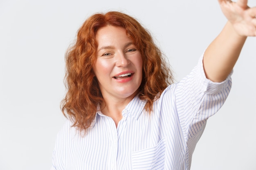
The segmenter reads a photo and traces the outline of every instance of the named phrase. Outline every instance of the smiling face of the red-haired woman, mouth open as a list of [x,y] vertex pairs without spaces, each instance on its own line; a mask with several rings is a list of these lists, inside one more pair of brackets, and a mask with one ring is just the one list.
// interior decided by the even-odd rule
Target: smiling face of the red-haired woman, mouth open
[[122,27],[105,26],[97,31],[97,59],[93,71],[106,99],[129,99],[138,93],[142,57]]

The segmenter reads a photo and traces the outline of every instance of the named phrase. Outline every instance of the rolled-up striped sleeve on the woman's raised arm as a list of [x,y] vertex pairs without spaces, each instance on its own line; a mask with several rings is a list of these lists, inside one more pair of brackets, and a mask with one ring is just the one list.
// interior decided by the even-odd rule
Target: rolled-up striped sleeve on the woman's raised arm
[[177,113],[187,143],[187,166],[207,119],[224,104],[231,89],[231,74],[223,82],[212,82],[204,74],[203,56],[191,73],[177,84]]

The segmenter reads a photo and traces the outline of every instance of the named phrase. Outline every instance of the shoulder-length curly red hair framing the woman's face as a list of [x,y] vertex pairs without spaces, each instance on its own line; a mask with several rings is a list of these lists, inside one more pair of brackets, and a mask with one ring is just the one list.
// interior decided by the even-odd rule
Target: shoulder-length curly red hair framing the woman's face
[[112,25],[121,26],[140,51],[143,61],[143,79],[139,97],[146,100],[145,109],[150,113],[153,102],[164,89],[173,83],[171,71],[157,48],[150,33],[134,18],[111,11],[97,13],[88,18],[77,33],[76,42],[66,55],[67,94],[62,101],[62,112],[73,121],[73,126],[86,130],[95,119],[97,106],[103,101],[92,65],[96,60],[97,30]]

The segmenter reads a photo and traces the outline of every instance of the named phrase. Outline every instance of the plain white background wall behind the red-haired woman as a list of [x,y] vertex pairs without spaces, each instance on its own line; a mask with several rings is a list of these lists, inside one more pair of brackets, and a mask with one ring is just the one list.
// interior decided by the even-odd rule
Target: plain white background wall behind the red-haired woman
[[[217,0],[1,0],[0,170],[50,168],[65,121],[60,110],[65,51],[88,16],[110,10],[123,11],[150,30],[177,81],[226,22]],[[248,38],[231,93],[209,119],[191,170],[256,170],[255,67],[256,38]]]

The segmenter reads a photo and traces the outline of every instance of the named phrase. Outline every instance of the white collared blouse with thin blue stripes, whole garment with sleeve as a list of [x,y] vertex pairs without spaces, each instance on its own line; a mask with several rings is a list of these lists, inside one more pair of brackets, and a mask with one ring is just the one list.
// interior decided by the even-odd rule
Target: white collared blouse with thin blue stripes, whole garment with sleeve
[[67,121],[56,139],[52,170],[189,170],[207,119],[229,94],[230,76],[211,82],[201,57],[188,76],[165,89],[150,115],[136,96],[117,128],[100,111],[84,137]]

